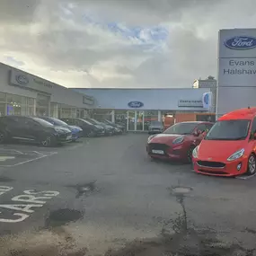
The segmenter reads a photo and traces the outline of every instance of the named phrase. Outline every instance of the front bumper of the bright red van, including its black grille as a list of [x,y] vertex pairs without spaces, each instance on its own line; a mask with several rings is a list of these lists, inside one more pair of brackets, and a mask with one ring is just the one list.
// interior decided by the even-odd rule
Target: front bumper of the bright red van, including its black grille
[[231,162],[211,162],[194,158],[193,168],[195,172],[200,174],[232,177],[247,172],[247,163],[247,157],[241,157]]

